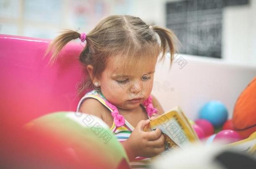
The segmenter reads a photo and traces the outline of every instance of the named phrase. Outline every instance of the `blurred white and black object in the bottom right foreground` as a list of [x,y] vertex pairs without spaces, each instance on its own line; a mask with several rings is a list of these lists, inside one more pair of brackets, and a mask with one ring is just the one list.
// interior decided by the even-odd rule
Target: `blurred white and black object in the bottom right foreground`
[[189,145],[169,151],[154,161],[155,169],[254,169],[255,156],[213,144]]

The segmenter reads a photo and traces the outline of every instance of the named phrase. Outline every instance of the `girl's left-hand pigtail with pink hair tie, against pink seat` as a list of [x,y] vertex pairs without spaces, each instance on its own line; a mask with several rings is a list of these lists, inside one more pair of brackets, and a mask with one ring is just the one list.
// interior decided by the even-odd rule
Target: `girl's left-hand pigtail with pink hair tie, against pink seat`
[[[48,54],[51,53],[51,58],[50,58],[50,65],[52,66],[55,61],[57,60],[58,54],[60,53],[60,50],[71,40],[74,40],[76,38],[80,38],[80,33],[73,31],[73,30],[66,30],[62,32],[61,35],[57,36],[51,44],[48,46],[46,53],[44,57]],[[44,58],[43,57],[43,58]],[[49,64],[48,63],[48,64]]]

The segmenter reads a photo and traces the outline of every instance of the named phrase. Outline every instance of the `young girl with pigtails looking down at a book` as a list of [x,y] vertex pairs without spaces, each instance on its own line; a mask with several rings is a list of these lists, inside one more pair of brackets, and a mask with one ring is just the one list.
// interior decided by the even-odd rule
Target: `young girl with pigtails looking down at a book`
[[[51,63],[71,40],[86,43],[80,61],[86,66],[93,91],[78,103],[77,111],[105,121],[123,144],[133,164],[144,164],[165,150],[159,129],[143,131],[164,113],[151,95],[155,65],[169,48],[172,63],[176,37],[171,30],[150,26],[140,18],[112,15],[101,20],[89,33],[68,30],[50,45]],[[134,166],[136,167],[136,166]]]

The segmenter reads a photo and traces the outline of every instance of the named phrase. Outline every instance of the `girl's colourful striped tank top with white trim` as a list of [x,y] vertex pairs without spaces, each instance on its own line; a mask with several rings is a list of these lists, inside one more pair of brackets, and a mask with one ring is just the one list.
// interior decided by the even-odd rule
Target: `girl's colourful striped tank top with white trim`
[[[152,97],[152,96],[150,96],[150,97]],[[103,96],[102,92],[92,90],[92,91],[86,93],[85,96],[81,98],[81,100],[78,103],[77,109],[76,109],[77,112],[78,112],[81,104],[85,101],[86,98],[95,98],[100,103],[102,103],[104,106],[106,106],[110,110],[110,112],[113,111],[111,106],[109,106],[110,103],[107,102],[107,100]],[[144,106],[146,108],[147,112],[150,111],[149,109],[147,109],[148,107],[146,107],[145,105],[142,105],[142,106]],[[151,112],[151,114],[152,113],[153,112]],[[148,118],[150,118],[151,114],[149,115],[149,113],[148,113]],[[134,130],[134,127],[127,120],[124,119],[124,124],[122,126],[116,126],[113,121],[113,124],[112,124],[110,130],[116,136],[118,141],[122,142],[129,138],[129,136],[131,135],[131,132]],[[150,158],[138,156],[133,161],[130,161],[130,166],[131,166],[131,168],[136,168],[136,169],[152,168],[151,162],[152,162],[152,160]]]

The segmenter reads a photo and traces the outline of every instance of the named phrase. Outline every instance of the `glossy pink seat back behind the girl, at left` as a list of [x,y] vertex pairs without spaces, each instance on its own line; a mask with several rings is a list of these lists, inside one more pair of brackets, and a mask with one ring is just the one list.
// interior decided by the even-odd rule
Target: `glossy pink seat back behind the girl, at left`
[[[55,111],[76,111],[86,79],[79,61],[82,45],[69,43],[55,65],[44,53],[50,40],[0,35],[1,120],[24,124]],[[88,91],[88,90],[87,90]]]

